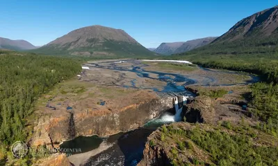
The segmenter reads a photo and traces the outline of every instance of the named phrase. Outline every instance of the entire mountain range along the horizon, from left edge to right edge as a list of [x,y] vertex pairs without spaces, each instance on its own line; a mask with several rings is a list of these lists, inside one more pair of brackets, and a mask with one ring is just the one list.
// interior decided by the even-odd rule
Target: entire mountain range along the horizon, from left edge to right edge
[[[206,50],[215,54],[235,54],[245,50],[260,53],[262,47],[277,46],[278,7],[256,12],[238,21],[236,25],[220,37],[204,37],[187,42],[162,43],[158,48],[145,48],[124,30],[105,26],[88,26],[55,39],[40,48],[24,40],[11,40],[0,37],[0,48],[10,50],[32,50],[48,55],[85,55],[95,57],[153,57],[160,55],[188,55]],[[200,48],[202,47],[202,48]],[[36,49],[35,49],[36,48]],[[248,49],[248,50],[247,50]],[[236,52],[235,52],[236,50]],[[252,50],[250,52],[250,50]],[[203,52],[202,52],[203,51]]]

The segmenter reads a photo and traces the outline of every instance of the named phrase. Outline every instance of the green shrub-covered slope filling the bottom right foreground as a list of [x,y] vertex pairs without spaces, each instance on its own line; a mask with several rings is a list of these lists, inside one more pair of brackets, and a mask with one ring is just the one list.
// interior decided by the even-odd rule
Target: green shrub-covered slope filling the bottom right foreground
[[277,138],[250,127],[244,120],[240,125],[226,121],[183,127],[170,124],[158,132],[160,138],[150,140],[149,145],[158,149],[162,145],[161,151],[170,151],[167,156],[174,166],[278,165],[278,148],[273,146]]

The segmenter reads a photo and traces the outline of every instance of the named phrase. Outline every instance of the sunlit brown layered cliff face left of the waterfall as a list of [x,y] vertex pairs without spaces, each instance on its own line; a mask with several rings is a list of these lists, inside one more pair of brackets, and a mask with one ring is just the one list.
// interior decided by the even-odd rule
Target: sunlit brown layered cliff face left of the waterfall
[[117,112],[72,111],[67,116],[44,121],[42,125],[45,130],[40,131],[44,137],[34,139],[32,144],[57,147],[60,142],[78,136],[111,136],[120,131],[136,129],[168,109],[172,109],[172,98],[154,98],[129,105]]

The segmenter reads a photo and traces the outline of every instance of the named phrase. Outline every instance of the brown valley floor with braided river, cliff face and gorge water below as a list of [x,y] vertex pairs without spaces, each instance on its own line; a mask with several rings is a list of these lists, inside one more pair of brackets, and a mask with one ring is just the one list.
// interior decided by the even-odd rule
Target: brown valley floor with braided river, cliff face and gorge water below
[[[161,68],[165,64],[168,67]],[[137,165],[149,134],[182,119],[182,115],[176,115],[179,120],[175,118],[174,96],[181,101],[183,95],[189,101],[196,95],[189,87],[235,89],[259,81],[247,73],[181,62],[100,60],[82,64],[82,68],[76,78],[58,84],[38,100],[37,127],[30,140],[33,147],[81,148],[81,154],[68,157],[74,165]],[[226,109],[218,115],[228,113],[240,120],[229,107]]]

